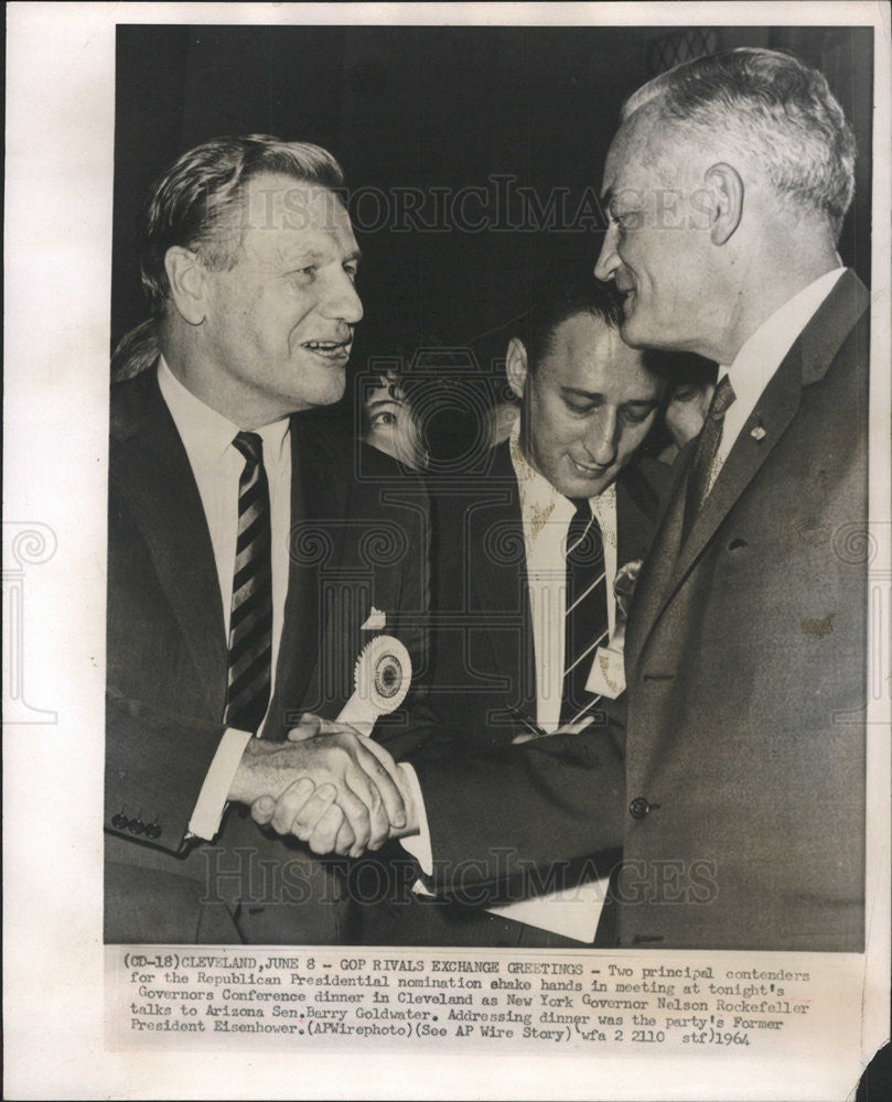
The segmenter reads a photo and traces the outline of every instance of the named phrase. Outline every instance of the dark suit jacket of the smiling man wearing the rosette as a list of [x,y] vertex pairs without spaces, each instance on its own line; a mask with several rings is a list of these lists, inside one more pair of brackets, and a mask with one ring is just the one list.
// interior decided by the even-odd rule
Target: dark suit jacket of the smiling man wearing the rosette
[[[264,731],[271,738],[301,711],[337,714],[356,655],[375,634],[361,630],[373,605],[416,666],[424,661],[423,488],[312,415],[292,418],[291,444],[289,588]],[[107,666],[106,938],[232,940],[233,900],[262,900],[240,880],[227,886],[225,905],[208,895],[207,847],[184,838],[223,732],[227,653],[201,498],[154,370],[112,391]],[[376,737],[400,753],[417,735],[402,715],[379,723]],[[254,847],[258,861],[281,862],[286,852],[232,812],[221,839]],[[208,898],[217,904],[212,930]],[[310,940],[337,936],[335,910],[311,920]]]

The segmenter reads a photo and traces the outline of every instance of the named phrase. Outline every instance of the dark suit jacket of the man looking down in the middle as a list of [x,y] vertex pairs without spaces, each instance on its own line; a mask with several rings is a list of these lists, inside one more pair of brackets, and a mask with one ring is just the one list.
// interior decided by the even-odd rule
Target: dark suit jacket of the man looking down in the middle
[[[529,591],[527,581],[520,499],[517,478],[507,442],[494,449],[485,472],[462,478],[438,477],[430,482],[434,539],[431,548],[431,650],[433,655],[429,703],[439,717],[439,727],[410,755],[412,764],[426,774],[432,763],[451,759],[476,760],[482,755],[480,776],[498,773],[512,738],[525,728],[519,716],[536,717],[536,676],[533,645]],[[647,554],[656,531],[659,507],[674,477],[665,464],[643,460],[626,468],[616,485],[617,566]],[[560,568],[560,563],[557,564]],[[481,840],[507,836],[518,814],[527,807],[527,778],[518,786],[515,798],[499,807],[488,807],[488,800],[471,808],[462,793],[456,795],[455,813],[450,823],[456,834],[472,827],[476,841],[459,861],[490,862],[498,879],[503,866],[513,874],[509,884],[499,884],[486,893],[485,901],[501,898],[523,898],[544,887],[558,887],[605,875],[619,860],[621,842],[623,786],[623,746],[625,742],[625,699],[604,699],[598,707],[597,736],[589,737],[573,753],[590,755],[599,763],[599,800],[605,814],[610,808],[613,832],[604,852],[587,852],[573,856],[591,857],[568,863],[560,871],[551,868],[538,879],[536,869],[515,867],[509,855],[491,853]],[[569,739],[572,747],[574,736]],[[567,746],[563,736],[542,739],[546,744]],[[547,755],[546,755],[547,756]],[[427,792],[422,779],[422,789]],[[476,791],[476,789],[475,789]],[[443,792],[444,799],[447,793]],[[434,808],[434,814],[437,809]],[[443,809],[445,811],[445,808]],[[531,806],[530,806],[531,810]],[[447,812],[448,813],[448,812]],[[468,819],[459,819],[465,814]],[[545,824],[534,818],[530,827]],[[451,828],[444,824],[444,829]],[[547,829],[547,828],[545,828]],[[436,838],[436,835],[434,835]],[[605,835],[606,838],[606,835]],[[496,846],[498,843],[496,842]],[[437,855],[437,850],[434,850]],[[560,855],[556,852],[556,855]],[[397,865],[391,860],[390,876]],[[495,869],[498,867],[499,873]],[[432,903],[418,903],[410,894],[417,875],[411,867],[390,899],[366,914],[365,937],[372,943],[406,944],[570,944],[531,929],[520,932],[518,923],[483,914],[479,905],[480,869],[471,873],[469,890],[453,883],[452,901],[468,907],[442,908]],[[531,878],[520,875],[531,872]],[[548,879],[548,877],[552,879]],[[557,877],[557,878],[555,878]],[[379,874],[384,883],[384,873]],[[461,869],[456,882],[461,882]],[[443,873],[436,879],[442,884]],[[389,914],[388,914],[389,909]],[[516,940],[512,940],[516,939]],[[578,942],[572,942],[578,944]]]

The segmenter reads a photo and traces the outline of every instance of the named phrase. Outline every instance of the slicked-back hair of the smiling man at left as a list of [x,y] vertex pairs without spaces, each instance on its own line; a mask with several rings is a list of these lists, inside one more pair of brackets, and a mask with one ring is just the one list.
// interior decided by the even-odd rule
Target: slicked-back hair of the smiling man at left
[[139,222],[142,288],[155,317],[170,296],[164,255],[171,246],[194,249],[208,267],[235,263],[241,230],[230,217],[256,176],[281,173],[332,192],[343,186],[341,166],[326,150],[268,134],[213,138],[183,155],[158,180]]

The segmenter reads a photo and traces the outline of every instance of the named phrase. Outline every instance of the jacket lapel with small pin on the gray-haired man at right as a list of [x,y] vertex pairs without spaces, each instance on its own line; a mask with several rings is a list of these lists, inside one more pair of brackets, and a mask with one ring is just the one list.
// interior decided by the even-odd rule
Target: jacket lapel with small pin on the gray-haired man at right
[[681,461],[684,476],[676,484],[638,581],[627,636],[630,662],[637,662],[663,609],[784,434],[799,408],[803,387],[824,377],[868,301],[858,277],[845,272],[773,375],[741,429],[684,547],[679,547],[687,474],[694,453],[689,446],[686,462]]

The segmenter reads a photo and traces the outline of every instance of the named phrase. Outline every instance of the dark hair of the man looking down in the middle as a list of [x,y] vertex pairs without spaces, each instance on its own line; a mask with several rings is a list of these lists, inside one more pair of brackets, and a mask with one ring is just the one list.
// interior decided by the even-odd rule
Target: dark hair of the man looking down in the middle
[[548,355],[555,329],[568,317],[589,314],[613,328],[623,321],[622,295],[612,283],[602,283],[591,273],[562,270],[544,276],[534,287],[531,305],[524,315],[524,344],[530,370]]

